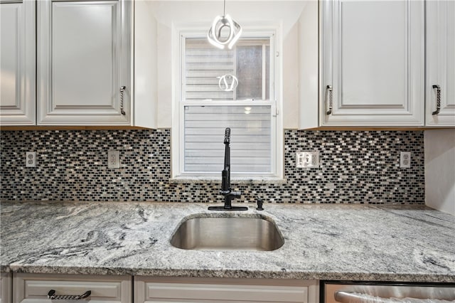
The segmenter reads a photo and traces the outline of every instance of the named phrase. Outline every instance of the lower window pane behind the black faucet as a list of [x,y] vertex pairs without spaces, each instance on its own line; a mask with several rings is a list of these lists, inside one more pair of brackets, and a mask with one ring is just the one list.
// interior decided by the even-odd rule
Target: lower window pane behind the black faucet
[[231,173],[271,173],[270,106],[185,106],[186,172],[221,172],[225,128],[231,129]]

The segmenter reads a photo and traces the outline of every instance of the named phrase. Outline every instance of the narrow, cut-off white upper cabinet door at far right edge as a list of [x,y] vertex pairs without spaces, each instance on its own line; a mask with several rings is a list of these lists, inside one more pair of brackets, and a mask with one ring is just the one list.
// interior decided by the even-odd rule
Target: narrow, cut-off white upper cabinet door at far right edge
[[427,126],[455,126],[455,1],[427,1],[426,91]]

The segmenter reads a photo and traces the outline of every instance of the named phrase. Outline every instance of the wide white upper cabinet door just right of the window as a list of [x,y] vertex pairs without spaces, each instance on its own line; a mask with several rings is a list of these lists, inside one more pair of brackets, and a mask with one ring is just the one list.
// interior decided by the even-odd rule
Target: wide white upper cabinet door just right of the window
[[322,1],[322,125],[424,124],[424,1]]

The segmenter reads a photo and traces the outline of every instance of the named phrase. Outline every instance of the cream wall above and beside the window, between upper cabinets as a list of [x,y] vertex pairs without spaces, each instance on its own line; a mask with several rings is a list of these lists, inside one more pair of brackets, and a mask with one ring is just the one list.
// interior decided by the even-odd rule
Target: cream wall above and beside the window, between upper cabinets
[[[317,3],[317,2],[316,2]],[[172,64],[172,28],[178,24],[194,23],[210,28],[213,18],[223,14],[223,1],[148,1],[157,26],[157,127],[172,126],[173,80],[178,68]],[[283,115],[284,128],[299,125],[299,17],[306,1],[226,1],[226,13],[242,26],[257,22],[281,24],[283,49]],[[317,14],[317,12],[316,12]],[[317,17],[317,16],[316,16]],[[316,28],[317,31],[317,28]]]

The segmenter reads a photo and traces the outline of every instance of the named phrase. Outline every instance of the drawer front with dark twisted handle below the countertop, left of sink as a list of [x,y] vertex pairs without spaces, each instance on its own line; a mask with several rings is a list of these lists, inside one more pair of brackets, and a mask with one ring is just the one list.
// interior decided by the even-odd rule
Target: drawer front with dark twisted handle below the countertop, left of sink
[[[14,273],[14,303],[132,302],[131,276]],[[49,295],[55,296],[50,298]],[[68,296],[68,297],[63,297]]]

